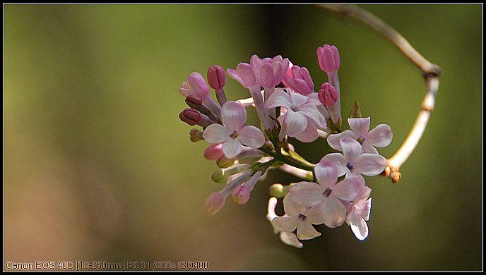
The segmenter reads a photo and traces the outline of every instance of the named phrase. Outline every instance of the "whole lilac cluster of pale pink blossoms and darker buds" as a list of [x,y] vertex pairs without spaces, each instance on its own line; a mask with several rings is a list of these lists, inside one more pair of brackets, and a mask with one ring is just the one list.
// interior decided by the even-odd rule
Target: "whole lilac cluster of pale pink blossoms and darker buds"
[[[266,171],[280,169],[304,180],[271,188],[275,197],[268,201],[267,218],[284,243],[302,247],[300,240],[321,235],[313,226],[319,224],[335,228],[346,223],[358,239],[367,238],[371,189],[363,176],[384,171],[386,159],[377,147],[388,146],[393,135],[386,124],[369,130],[370,118],[361,118],[357,106],[348,118],[350,129],[342,130],[339,51],[324,45],[317,49],[317,59],[328,77],[317,92],[307,68],[282,56],[261,59],[254,55],[249,63],[239,63],[226,73],[212,66],[207,74],[209,86],[197,72],[182,82],[179,92],[190,108],[179,118],[203,128],[191,129],[191,140],[211,143],[204,157],[220,167],[211,178],[226,183],[206,200],[208,214],[219,212],[230,196],[237,204],[247,203]],[[227,101],[226,75],[247,88],[251,98]],[[217,102],[210,96],[210,87]],[[261,127],[246,124],[251,107]],[[301,142],[324,138],[338,152],[312,164],[295,152],[289,138]],[[275,214],[277,197],[283,198],[283,216]]]

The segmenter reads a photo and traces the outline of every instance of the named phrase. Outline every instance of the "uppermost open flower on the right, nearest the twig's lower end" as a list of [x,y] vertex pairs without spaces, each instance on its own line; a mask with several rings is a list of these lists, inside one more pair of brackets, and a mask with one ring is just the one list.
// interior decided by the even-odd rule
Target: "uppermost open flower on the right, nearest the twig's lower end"
[[343,151],[340,145],[340,139],[349,137],[360,142],[364,153],[378,154],[375,147],[386,147],[390,145],[393,139],[393,133],[390,126],[379,124],[373,130],[369,131],[370,118],[348,118],[348,124],[351,130],[344,130],[342,133],[329,135],[327,142],[329,146],[338,151]]

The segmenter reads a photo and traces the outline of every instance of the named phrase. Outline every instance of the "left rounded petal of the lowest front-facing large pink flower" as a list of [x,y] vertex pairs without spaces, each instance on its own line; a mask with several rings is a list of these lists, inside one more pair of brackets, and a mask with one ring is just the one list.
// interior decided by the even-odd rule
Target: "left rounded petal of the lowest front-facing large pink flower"
[[323,192],[324,189],[321,185],[308,181],[301,181],[290,187],[289,196],[297,204],[312,207],[322,202],[324,199]]

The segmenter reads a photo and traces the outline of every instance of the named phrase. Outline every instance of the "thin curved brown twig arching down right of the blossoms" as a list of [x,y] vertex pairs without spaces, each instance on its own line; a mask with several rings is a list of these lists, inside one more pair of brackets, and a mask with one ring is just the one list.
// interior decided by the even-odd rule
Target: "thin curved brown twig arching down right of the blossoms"
[[422,75],[426,80],[427,93],[425,94],[422,108],[420,109],[417,119],[402,146],[397,150],[393,157],[388,159],[388,164],[384,171],[384,175],[389,176],[391,181],[396,183],[400,181],[401,178],[401,173],[399,171],[400,167],[405,163],[408,157],[410,157],[410,154],[412,154],[415,147],[417,147],[417,144],[427,127],[427,123],[429,122],[430,114],[432,114],[432,111],[434,110],[435,97],[437,95],[437,90],[439,89],[439,75],[441,74],[441,68],[425,59],[424,56],[410,45],[405,37],[372,13],[364,11],[362,8],[355,5],[321,4],[318,6],[343,16],[355,18],[364,25],[371,27],[373,30],[376,30],[390,39],[391,42],[393,42],[393,44],[395,44],[396,47],[398,47],[398,49],[400,49],[400,51],[420,69],[420,71],[422,71]]

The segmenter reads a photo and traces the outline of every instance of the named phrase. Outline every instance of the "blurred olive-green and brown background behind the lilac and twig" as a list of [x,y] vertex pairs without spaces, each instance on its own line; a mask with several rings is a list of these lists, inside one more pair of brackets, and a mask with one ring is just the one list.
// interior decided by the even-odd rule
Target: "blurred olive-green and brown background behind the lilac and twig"
[[[425,94],[381,35],[315,6],[4,6],[4,261],[208,261],[212,270],[482,269],[482,6],[362,5],[443,70],[403,178],[367,178],[370,235],[317,226],[297,249],[265,218],[271,171],[249,203],[215,216],[222,186],[177,117],[192,71],[281,54],[326,79],[316,48],[340,49],[343,115],[357,100],[388,123],[391,157]],[[230,99],[249,97],[228,80]],[[251,114],[256,123],[256,115]],[[309,160],[331,152],[295,142]],[[281,204],[281,202],[279,203]],[[5,265],[4,265],[5,269]]]

